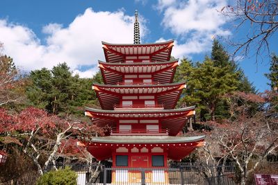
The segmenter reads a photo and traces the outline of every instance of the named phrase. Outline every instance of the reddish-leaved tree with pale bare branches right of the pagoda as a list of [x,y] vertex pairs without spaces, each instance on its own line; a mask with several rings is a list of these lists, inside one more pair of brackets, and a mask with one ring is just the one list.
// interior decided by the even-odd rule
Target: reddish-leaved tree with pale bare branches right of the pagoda
[[[218,145],[220,161],[235,161],[240,171],[240,184],[245,184],[254,170],[270,154],[278,150],[278,117],[273,112],[277,105],[269,102],[272,92],[247,94],[234,92],[227,95],[230,106],[230,118],[218,122],[209,122],[213,131],[208,133],[208,145],[204,150],[207,157],[214,160],[213,146]],[[207,159],[208,159],[207,158]]]

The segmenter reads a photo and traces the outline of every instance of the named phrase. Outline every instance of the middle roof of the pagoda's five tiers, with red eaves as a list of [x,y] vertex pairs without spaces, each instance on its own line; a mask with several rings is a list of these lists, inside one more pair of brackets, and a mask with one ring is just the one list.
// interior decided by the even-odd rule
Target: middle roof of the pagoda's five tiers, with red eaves
[[120,103],[121,96],[157,96],[158,103],[163,104],[165,109],[173,109],[185,87],[185,82],[159,85],[93,85],[102,109],[113,109],[114,105]]

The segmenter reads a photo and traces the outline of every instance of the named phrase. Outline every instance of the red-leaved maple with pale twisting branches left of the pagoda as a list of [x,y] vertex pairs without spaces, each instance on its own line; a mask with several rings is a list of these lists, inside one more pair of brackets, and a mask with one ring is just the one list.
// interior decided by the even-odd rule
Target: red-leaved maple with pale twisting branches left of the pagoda
[[90,139],[96,132],[101,134],[95,125],[59,118],[35,107],[19,113],[0,109],[2,143],[7,148],[20,146],[21,152],[33,160],[40,174],[49,164],[55,163],[57,157],[86,157],[85,148],[77,146],[77,141]]

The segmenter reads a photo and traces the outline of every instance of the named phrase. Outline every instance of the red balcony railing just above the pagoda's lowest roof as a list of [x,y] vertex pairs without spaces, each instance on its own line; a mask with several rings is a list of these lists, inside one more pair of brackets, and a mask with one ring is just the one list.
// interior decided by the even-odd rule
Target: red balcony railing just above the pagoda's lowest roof
[[168,135],[168,130],[111,130],[111,135]]

